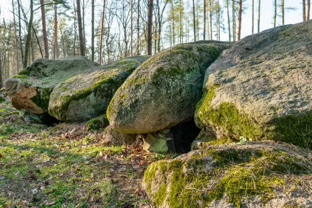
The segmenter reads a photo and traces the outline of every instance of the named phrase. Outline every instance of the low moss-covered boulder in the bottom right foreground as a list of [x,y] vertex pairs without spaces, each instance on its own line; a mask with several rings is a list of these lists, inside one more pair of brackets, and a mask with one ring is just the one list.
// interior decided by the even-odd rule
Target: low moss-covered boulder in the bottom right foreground
[[211,145],[152,163],[142,188],[160,207],[309,207],[312,154],[289,144]]

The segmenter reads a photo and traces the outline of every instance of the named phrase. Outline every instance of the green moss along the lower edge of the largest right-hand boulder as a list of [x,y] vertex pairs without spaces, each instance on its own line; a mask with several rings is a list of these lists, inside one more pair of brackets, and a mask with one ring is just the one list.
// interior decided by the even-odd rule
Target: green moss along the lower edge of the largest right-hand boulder
[[276,140],[295,145],[312,147],[309,139],[311,129],[311,111],[299,116],[275,118],[268,124],[259,124],[244,113],[235,103],[222,102],[217,108],[211,107],[215,90],[219,85],[211,86],[197,103],[196,114],[206,126],[222,127],[231,137],[244,136],[250,140]]

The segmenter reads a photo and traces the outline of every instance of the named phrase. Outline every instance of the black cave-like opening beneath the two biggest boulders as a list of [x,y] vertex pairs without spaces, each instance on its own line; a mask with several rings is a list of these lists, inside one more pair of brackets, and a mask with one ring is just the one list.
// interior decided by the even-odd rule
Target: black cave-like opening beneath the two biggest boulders
[[194,119],[171,127],[170,133],[173,134],[175,151],[177,153],[189,152],[199,132],[200,129],[195,125]]

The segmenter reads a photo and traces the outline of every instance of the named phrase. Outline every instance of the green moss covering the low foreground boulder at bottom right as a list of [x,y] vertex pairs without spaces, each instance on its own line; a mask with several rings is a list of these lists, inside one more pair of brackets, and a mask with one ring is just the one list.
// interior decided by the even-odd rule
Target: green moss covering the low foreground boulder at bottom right
[[[205,169],[206,155],[213,158],[212,171]],[[304,161],[280,150],[210,149],[188,162],[175,159],[152,163],[144,174],[144,183],[158,206],[166,200],[170,207],[206,207],[226,194],[229,203],[240,207],[244,197],[274,197],[275,188],[284,185],[277,175],[308,172]],[[152,185],[160,188],[153,190]]]

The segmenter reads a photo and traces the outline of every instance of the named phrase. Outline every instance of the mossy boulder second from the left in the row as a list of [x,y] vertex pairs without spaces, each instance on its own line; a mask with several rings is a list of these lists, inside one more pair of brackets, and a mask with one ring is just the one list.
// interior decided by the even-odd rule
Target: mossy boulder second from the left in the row
[[149,56],[136,56],[94,67],[57,85],[49,114],[62,121],[81,121],[106,113],[116,90]]

